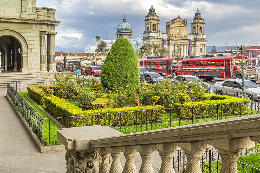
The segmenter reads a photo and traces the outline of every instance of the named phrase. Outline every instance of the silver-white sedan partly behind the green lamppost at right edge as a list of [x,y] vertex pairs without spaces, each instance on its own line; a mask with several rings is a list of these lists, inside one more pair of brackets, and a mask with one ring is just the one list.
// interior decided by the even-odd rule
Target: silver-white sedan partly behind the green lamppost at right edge
[[[244,80],[245,93],[251,101],[260,100],[260,87],[252,81]],[[242,91],[242,79],[228,79],[223,82],[216,82],[214,93],[238,97]]]

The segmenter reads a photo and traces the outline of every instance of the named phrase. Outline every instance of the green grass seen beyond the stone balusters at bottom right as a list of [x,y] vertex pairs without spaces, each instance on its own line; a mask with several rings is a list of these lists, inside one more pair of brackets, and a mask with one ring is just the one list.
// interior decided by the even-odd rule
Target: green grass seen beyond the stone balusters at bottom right
[[[258,168],[260,169],[260,153],[254,153],[254,154],[250,154],[250,155],[246,155],[246,156],[240,156],[238,157],[238,161],[240,162],[237,162],[237,170],[238,172],[242,173],[242,172],[253,172],[253,173],[259,173],[260,170],[256,170],[252,167],[255,167],[255,168]],[[242,164],[241,162],[245,163],[245,164],[248,164],[248,165],[244,165]],[[222,162],[221,161],[215,161],[215,162],[211,162],[211,172],[215,171],[218,169],[220,170],[221,169],[221,164]],[[209,164],[205,164],[205,165],[209,165]],[[202,166],[200,166],[202,167]],[[203,172],[209,172],[208,169],[206,168],[203,168]]]

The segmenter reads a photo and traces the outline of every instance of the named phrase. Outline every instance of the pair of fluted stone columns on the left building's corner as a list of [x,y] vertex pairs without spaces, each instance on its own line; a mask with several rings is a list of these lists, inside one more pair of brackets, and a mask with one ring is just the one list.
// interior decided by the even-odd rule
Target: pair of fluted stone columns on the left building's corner
[[[40,32],[40,71],[56,71],[55,64],[55,35],[56,32]],[[47,67],[46,41],[47,35]]]

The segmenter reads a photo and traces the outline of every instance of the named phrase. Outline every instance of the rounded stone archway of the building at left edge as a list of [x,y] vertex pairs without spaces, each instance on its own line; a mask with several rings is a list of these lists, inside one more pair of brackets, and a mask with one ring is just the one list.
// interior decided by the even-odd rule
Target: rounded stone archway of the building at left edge
[[4,56],[5,69],[8,68],[7,64],[12,64],[12,69],[28,72],[28,44],[24,37],[13,30],[0,30],[0,38],[0,47],[4,50],[2,59]]

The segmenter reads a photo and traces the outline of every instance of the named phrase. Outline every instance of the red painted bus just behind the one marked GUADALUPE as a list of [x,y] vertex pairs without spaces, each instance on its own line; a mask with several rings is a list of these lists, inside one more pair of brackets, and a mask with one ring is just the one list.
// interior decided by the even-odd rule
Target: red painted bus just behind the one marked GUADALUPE
[[[178,65],[181,66],[182,60],[183,58],[181,57],[151,56],[144,59],[144,67],[150,72],[165,73],[166,76],[173,77],[181,75],[182,71]],[[142,67],[142,60],[139,65]]]

